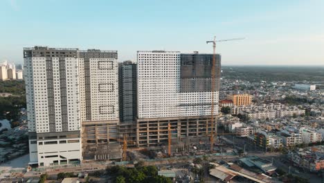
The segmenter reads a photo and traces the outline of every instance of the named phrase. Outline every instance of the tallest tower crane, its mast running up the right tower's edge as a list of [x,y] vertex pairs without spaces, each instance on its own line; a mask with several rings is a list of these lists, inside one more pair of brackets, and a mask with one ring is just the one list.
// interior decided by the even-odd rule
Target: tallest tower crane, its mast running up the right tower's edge
[[[233,38],[233,39],[227,39],[227,40],[216,40],[216,36],[214,36],[213,41],[207,41],[206,44],[208,43],[213,43],[213,65],[212,65],[212,71],[211,71],[211,110],[210,110],[210,122],[211,122],[211,132],[210,132],[210,151],[213,152],[214,149],[214,103],[215,103],[215,97],[214,97],[214,92],[215,92],[215,82],[216,82],[216,42],[228,42],[228,41],[234,41],[234,40],[244,40],[245,38]],[[217,71],[217,89],[219,89],[220,85],[220,71]],[[216,125],[216,132],[215,134],[217,135],[217,121],[215,121]],[[208,121],[206,122],[206,134],[208,136]]]

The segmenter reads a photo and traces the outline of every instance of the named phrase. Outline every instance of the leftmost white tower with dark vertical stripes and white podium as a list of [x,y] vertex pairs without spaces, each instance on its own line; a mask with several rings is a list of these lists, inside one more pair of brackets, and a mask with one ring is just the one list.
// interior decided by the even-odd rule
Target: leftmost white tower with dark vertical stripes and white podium
[[80,162],[77,49],[24,49],[30,164]]

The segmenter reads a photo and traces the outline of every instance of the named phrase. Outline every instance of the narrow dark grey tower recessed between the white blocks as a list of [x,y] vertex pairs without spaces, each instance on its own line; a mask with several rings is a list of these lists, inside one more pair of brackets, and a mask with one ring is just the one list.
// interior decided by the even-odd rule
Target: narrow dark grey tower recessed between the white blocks
[[134,122],[137,115],[136,64],[125,61],[119,64],[120,121]]

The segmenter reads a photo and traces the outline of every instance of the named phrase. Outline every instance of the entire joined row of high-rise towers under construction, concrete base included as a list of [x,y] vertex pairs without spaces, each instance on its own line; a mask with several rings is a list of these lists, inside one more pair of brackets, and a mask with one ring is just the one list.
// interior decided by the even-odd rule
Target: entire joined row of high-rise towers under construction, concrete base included
[[[167,143],[169,124],[172,139],[210,133],[212,54],[138,51],[137,64],[117,59],[117,51],[24,49],[30,164],[120,159],[125,140]],[[219,55],[215,69],[217,115]]]

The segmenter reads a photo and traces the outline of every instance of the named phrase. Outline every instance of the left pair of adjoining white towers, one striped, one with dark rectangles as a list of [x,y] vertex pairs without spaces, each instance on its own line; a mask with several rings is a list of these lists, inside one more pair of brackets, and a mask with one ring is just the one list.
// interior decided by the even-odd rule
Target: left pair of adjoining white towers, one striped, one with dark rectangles
[[30,164],[80,162],[83,146],[116,136],[116,59],[116,51],[24,49]]

